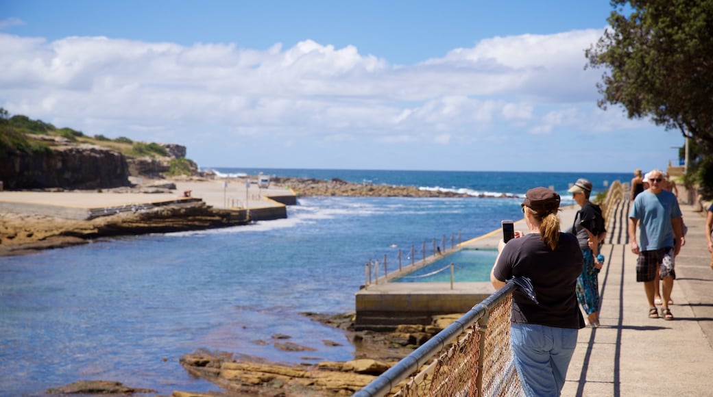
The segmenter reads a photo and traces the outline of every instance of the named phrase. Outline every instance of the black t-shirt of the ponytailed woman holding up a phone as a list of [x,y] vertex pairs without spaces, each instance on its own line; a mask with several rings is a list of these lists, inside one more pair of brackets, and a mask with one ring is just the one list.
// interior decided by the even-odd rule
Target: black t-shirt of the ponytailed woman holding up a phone
[[571,233],[560,233],[558,248],[554,251],[537,233],[508,241],[493,275],[501,281],[513,276],[529,277],[539,302],[533,302],[515,288],[511,321],[583,328],[585,323],[575,295],[577,277],[582,273],[583,265],[582,251]]

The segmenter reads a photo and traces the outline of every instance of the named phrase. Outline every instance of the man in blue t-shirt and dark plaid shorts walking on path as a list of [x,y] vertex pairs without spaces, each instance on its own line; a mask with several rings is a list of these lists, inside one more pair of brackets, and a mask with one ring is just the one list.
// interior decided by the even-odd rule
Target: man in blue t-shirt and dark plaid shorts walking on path
[[[663,284],[661,314],[664,319],[672,320],[669,299],[676,278],[674,259],[685,243],[683,218],[676,196],[663,189],[663,172],[655,169],[648,179],[650,188],[636,197],[629,213],[629,243],[632,253],[639,255],[636,281],[644,283],[649,317],[659,318],[654,303],[654,280],[659,277]],[[638,241],[637,229],[640,231]]]

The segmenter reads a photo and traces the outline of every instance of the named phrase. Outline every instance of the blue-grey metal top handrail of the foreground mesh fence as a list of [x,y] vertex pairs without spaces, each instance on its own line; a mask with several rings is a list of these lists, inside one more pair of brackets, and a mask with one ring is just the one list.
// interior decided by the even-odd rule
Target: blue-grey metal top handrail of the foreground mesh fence
[[409,377],[422,365],[433,359],[445,346],[453,342],[453,340],[463,334],[463,332],[466,332],[466,329],[472,327],[473,324],[485,314],[488,314],[491,308],[496,307],[502,300],[511,295],[515,287],[516,285],[514,283],[508,282],[500,290],[493,292],[493,294],[488,296],[483,302],[473,306],[473,308],[468,310],[466,314],[463,314],[463,316],[453,322],[453,324],[443,329],[443,331],[438,332],[438,334],[431,337],[428,342],[419,346],[418,349],[401,359],[401,361],[379,375],[374,381],[371,381],[371,383],[364,388],[354,393],[354,397],[386,396],[399,382]]

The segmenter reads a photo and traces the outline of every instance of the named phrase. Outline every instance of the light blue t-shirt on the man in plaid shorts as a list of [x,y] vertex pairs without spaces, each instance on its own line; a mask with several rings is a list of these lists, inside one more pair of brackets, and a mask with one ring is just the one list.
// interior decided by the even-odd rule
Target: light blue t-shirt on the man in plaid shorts
[[634,199],[629,218],[639,220],[639,249],[660,250],[674,246],[672,219],[681,216],[678,199],[670,191],[644,191]]

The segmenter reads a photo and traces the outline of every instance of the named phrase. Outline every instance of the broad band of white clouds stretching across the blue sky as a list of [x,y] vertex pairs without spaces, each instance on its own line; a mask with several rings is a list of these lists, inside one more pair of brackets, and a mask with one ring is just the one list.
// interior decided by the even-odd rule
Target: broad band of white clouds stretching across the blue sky
[[260,51],[0,33],[0,106],[86,134],[204,153],[266,133],[278,144],[425,146],[573,126],[606,132],[627,124],[597,109],[598,74],[583,70],[584,50],[602,31],[489,38],[415,65],[311,40]]

